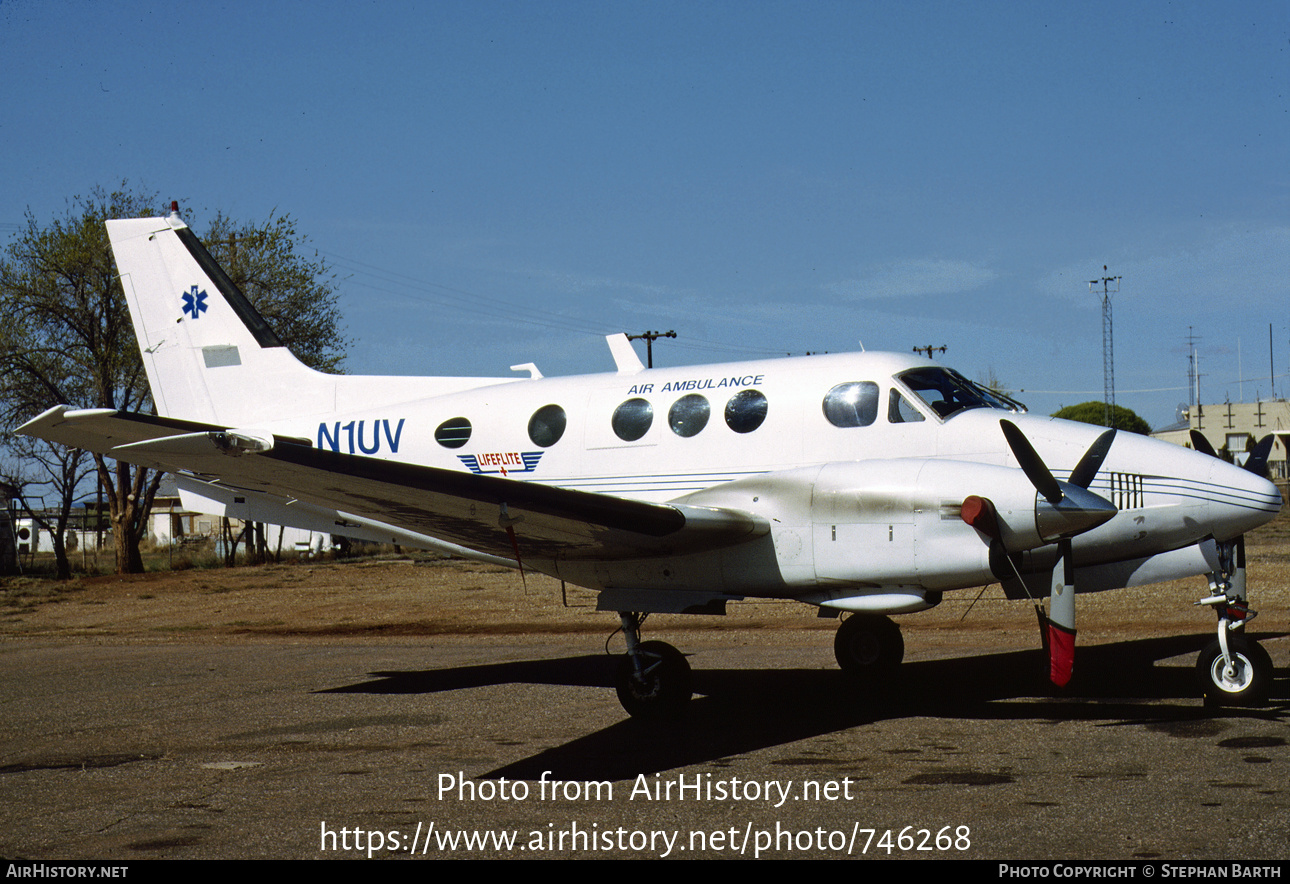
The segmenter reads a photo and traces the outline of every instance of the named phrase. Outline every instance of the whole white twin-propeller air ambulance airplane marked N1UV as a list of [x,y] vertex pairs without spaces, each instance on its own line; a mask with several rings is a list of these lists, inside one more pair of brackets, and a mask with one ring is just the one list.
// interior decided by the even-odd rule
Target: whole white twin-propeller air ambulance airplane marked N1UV
[[[646,614],[743,598],[848,613],[841,668],[888,680],[890,614],[1002,583],[1049,599],[1050,676],[1075,595],[1207,578],[1202,692],[1272,679],[1245,638],[1242,536],[1281,498],[1255,471],[1024,413],[925,359],[849,354],[544,378],[353,377],[297,361],[179,219],[107,222],[157,416],[57,407],[18,432],[175,475],[184,506],[542,572],[599,591],[632,715],[690,698]],[[1267,461],[1267,444],[1255,468]],[[1050,466],[1051,465],[1051,468]]]

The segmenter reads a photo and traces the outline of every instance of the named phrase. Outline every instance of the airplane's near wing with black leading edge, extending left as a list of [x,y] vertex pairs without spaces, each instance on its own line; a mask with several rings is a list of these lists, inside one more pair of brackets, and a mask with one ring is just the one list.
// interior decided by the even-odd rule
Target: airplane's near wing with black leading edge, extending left
[[[649,503],[341,454],[307,440],[59,405],[15,432],[233,490],[302,501],[470,550],[534,559],[635,559],[731,546],[770,530],[730,508]],[[511,530],[513,530],[513,537]]]

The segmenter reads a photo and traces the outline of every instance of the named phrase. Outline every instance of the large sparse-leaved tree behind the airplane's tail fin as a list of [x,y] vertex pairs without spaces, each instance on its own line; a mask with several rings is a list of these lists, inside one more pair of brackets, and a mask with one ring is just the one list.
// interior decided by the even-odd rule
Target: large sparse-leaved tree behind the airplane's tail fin
[[[123,182],[75,196],[62,217],[26,228],[0,258],[0,418],[8,426],[54,405],[151,412],[134,326],[112,261],[110,218],[164,214],[155,194]],[[230,277],[306,364],[337,370],[343,359],[335,277],[290,216],[261,225],[217,214],[205,237]],[[160,474],[94,456],[108,501],[116,569],[143,569],[139,543]]]

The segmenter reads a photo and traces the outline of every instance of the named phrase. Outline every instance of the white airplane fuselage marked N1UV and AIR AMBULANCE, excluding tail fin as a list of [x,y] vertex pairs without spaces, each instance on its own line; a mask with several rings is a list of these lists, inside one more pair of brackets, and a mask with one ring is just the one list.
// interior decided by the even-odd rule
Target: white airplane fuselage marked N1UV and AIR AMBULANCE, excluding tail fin
[[[969,496],[993,501],[1007,552],[1028,560],[1047,546],[1000,418],[1058,477],[1100,432],[1000,407],[1007,403],[947,403],[942,374],[915,356],[846,354],[519,379],[405,403],[391,388],[374,400],[392,404],[268,428],[346,454],[742,510],[770,525],[720,550],[525,563],[592,588],[940,591],[1002,577],[997,550],[992,560],[988,538],[960,517]],[[1265,480],[1133,434],[1117,436],[1090,490],[1117,512],[1073,538],[1080,567],[1133,563],[1138,579],[1162,578],[1138,573],[1143,563],[1236,537],[1280,507]],[[1204,564],[1198,551],[1175,559],[1166,573]],[[1081,588],[1124,585],[1120,572],[1090,570]]]

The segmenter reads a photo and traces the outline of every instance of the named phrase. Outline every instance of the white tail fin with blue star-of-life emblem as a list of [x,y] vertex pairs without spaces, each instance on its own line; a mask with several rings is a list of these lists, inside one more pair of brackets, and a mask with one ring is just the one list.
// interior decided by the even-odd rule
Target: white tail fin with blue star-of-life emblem
[[334,408],[334,376],[283,346],[178,210],[108,221],[107,232],[159,414],[245,423],[284,417],[267,410],[284,403]]

